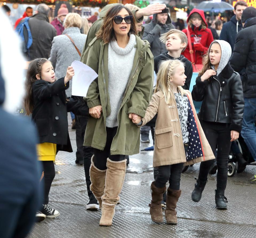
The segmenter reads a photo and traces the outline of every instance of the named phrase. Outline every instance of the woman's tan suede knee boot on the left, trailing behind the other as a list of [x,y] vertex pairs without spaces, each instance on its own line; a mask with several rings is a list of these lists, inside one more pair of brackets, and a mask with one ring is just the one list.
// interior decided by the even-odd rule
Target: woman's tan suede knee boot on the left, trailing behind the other
[[104,193],[105,180],[106,180],[106,171],[97,169],[93,162],[94,155],[91,157],[91,166],[90,166],[90,190],[93,192],[94,197],[99,202],[99,208],[101,209],[101,196]]

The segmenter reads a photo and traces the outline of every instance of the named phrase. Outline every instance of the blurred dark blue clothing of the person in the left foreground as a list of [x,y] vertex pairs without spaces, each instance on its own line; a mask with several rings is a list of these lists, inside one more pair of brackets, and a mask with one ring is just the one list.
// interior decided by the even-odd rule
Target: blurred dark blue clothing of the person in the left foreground
[[6,112],[0,70],[0,237],[26,237],[42,194],[36,131],[28,118]]

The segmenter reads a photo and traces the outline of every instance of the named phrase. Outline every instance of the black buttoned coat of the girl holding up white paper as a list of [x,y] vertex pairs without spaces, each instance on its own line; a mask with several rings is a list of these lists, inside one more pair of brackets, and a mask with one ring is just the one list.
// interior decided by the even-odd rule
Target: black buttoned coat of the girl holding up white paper
[[67,111],[72,111],[76,115],[88,116],[87,105],[74,99],[66,101],[66,86],[64,78],[60,78],[54,83],[44,80],[37,80],[32,85],[34,109],[32,119],[34,120],[39,143],[57,144],[57,151],[72,152],[69,139]]

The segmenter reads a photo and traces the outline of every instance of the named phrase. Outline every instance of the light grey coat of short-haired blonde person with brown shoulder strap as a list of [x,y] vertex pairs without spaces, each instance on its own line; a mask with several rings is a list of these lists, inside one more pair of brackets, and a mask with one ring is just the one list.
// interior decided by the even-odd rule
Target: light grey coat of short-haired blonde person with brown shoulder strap
[[[67,67],[70,66],[74,60],[80,61],[77,50],[65,34],[68,34],[72,38],[81,53],[87,37],[87,35],[80,33],[78,27],[69,27],[63,31],[62,35],[53,38],[53,46],[49,60],[53,64],[57,78],[62,78],[66,75]],[[70,81],[69,89],[66,90],[67,97],[71,97],[71,88],[72,80]]]

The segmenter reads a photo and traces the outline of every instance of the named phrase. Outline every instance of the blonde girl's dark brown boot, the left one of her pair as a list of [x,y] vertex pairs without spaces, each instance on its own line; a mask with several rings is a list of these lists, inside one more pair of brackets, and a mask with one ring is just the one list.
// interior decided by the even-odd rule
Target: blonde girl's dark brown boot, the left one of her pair
[[158,188],[151,183],[151,196],[152,200],[149,204],[149,213],[151,215],[151,220],[155,223],[163,222],[162,206],[161,201],[163,200],[163,194],[166,191],[166,187]]

